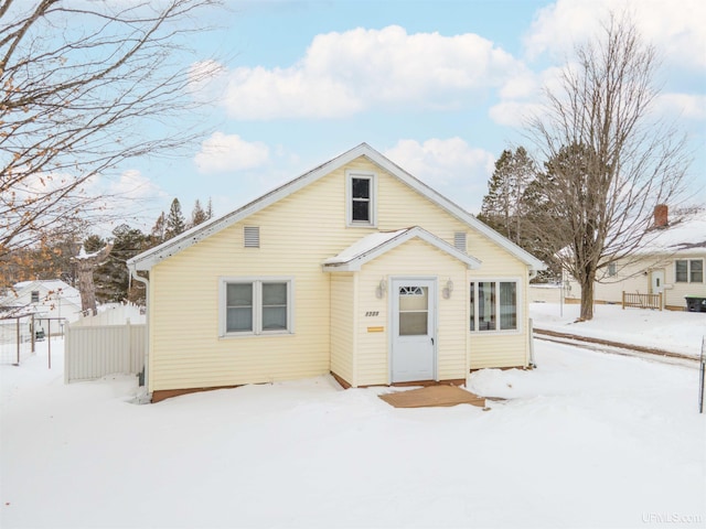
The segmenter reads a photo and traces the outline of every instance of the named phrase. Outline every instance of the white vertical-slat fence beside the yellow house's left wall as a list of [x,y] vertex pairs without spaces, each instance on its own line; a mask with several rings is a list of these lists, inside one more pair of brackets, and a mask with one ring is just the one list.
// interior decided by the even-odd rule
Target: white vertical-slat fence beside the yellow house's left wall
[[137,375],[145,365],[147,325],[66,325],[64,382],[95,380],[121,373]]

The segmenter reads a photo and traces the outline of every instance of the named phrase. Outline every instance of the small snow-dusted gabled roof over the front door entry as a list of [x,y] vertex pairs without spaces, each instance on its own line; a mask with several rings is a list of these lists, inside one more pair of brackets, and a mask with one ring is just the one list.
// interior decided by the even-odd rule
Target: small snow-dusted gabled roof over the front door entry
[[422,229],[419,226],[414,226],[411,228],[398,229],[396,231],[379,231],[363,237],[359,241],[349,246],[338,256],[330,257],[323,261],[323,270],[327,272],[351,272],[360,270],[366,262],[415,237],[454,257],[459,261],[464,262],[470,269],[479,268],[481,266],[481,261],[474,257],[458,250],[426,229]]

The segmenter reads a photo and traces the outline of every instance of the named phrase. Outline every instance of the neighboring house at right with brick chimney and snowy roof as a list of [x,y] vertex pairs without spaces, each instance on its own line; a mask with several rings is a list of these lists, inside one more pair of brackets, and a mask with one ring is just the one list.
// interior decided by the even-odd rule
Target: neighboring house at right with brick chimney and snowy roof
[[[595,285],[597,303],[621,303],[622,293],[659,294],[665,309],[683,311],[686,296],[706,298],[706,209],[670,222],[665,205],[655,207],[654,224],[629,259],[602,270]],[[569,301],[580,299],[569,281]]]

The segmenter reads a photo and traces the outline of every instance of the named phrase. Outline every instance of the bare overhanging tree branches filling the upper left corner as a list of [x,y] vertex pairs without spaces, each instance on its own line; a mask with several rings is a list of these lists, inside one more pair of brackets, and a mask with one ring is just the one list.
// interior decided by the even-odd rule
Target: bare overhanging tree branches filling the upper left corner
[[190,87],[217,63],[189,60],[186,41],[217,3],[0,1],[0,259],[101,214],[90,185],[121,162],[201,136],[183,122]]

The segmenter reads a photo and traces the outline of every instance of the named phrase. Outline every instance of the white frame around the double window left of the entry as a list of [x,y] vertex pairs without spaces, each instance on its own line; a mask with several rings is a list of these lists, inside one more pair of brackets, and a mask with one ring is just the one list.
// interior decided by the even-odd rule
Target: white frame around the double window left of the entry
[[[253,330],[228,332],[227,328],[227,285],[233,283],[253,284]],[[287,284],[287,328],[278,331],[263,330],[263,283]],[[292,277],[225,277],[218,279],[218,336],[222,338],[243,336],[288,336],[295,334],[295,278]]]

